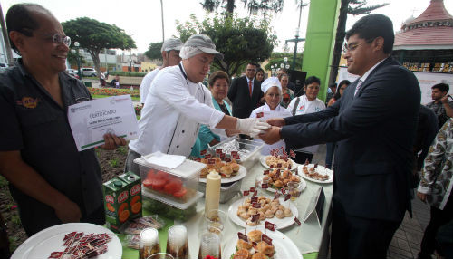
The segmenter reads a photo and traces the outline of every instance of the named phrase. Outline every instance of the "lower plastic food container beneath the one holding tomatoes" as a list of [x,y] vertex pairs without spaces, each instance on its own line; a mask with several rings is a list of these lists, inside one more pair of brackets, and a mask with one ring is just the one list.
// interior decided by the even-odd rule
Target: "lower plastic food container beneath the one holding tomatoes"
[[203,193],[197,192],[187,203],[181,204],[165,197],[159,197],[146,189],[142,191],[143,208],[151,214],[165,216],[172,220],[187,221],[197,214],[197,201],[203,197]]

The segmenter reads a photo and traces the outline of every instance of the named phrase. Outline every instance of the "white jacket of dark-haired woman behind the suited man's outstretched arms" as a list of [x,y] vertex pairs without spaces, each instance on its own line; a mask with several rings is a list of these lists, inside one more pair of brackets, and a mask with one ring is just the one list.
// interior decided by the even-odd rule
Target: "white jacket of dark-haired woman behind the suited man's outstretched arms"
[[[323,101],[319,100],[318,98],[316,98],[313,101],[308,101],[307,96],[304,94],[301,97],[296,97],[293,100],[291,100],[287,108],[288,110],[290,110],[290,112],[293,112],[294,104],[297,98],[300,98],[301,101],[299,101],[299,104],[297,104],[297,108],[295,109],[295,115],[308,114],[325,109],[325,104]],[[295,150],[299,152],[314,154],[318,150],[318,147],[319,145],[313,145]]]

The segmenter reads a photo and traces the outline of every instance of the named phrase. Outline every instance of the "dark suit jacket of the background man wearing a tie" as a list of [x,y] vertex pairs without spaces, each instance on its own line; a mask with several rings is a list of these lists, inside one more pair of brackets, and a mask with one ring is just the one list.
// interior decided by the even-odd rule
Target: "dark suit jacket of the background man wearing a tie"
[[233,103],[233,116],[237,118],[250,117],[252,110],[261,106],[259,101],[262,97],[261,82],[254,79],[254,90],[252,97],[250,97],[246,76],[236,78],[228,91],[228,98]]

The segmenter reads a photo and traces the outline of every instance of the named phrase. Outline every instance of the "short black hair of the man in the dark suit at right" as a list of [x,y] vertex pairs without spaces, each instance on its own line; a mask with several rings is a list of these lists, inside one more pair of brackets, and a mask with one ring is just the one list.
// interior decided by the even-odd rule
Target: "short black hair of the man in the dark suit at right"
[[359,38],[370,42],[377,37],[384,38],[384,53],[390,54],[395,42],[395,34],[393,34],[393,23],[389,17],[382,14],[370,14],[361,17],[359,21],[352,25],[351,30],[346,33],[346,40],[349,40],[354,34],[358,34]]

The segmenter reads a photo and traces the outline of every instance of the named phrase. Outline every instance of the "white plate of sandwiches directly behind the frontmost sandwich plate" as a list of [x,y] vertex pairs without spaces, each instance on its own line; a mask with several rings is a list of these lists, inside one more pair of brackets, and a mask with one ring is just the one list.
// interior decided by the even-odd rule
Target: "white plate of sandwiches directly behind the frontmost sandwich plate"
[[[240,225],[242,227],[246,227],[246,221],[237,216],[237,208],[241,206],[244,201],[246,200],[247,197],[241,198],[236,200],[231,206],[228,208],[228,217],[236,223],[236,225]],[[274,197],[269,197],[270,199],[273,199]],[[299,213],[297,211],[297,207],[294,206],[293,202],[291,200],[284,201],[284,197],[279,198],[280,204],[283,206],[288,206],[289,204],[289,209],[291,209],[291,212],[293,212],[293,216],[289,217],[284,217],[284,218],[277,218],[274,216],[273,218],[266,218],[265,220],[262,220],[260,224],[257,226],[263,226],[265,225],[265,221],[269,221],[270,223],[275,224],[276,229],[282,229],[284,227],[288,227],[290,225],[293,225],[294,223],[294,216],[299,216]],[[247,228],[254,228],[255,225],[247,225]]]

